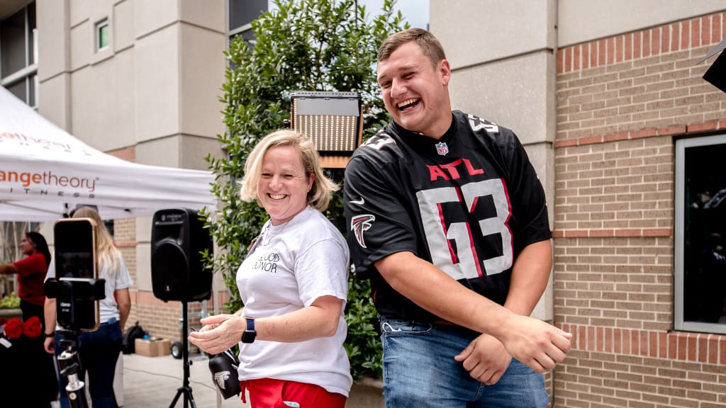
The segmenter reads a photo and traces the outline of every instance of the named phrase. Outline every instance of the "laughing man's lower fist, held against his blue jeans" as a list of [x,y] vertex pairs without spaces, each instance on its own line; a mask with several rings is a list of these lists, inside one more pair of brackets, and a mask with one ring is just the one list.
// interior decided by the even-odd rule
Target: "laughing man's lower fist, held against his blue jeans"
[[464,362],[463,367],[471,378],[493,385],[507,371],[512,355],[499,340],[484,334],[469,343],[458,356],[454,356],[454,360]]

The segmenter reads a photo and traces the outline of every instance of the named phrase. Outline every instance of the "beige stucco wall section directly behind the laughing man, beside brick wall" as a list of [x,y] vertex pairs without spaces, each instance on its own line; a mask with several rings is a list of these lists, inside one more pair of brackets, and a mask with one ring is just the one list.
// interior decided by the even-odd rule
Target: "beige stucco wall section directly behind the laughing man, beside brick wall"
[[[431,0],[430,16],[452,107],[513,129],[553,202],[557,1]],[[551,285],[534,316],[552,319]]]

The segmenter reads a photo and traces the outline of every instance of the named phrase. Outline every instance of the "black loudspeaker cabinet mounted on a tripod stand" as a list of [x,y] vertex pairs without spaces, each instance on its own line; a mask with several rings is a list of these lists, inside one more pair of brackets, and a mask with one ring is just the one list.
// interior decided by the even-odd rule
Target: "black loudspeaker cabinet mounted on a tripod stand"
[[151,227],[151,281],[162,301],[202,301],[212,295],[212,270],[201,252],[212,253],[212,238],[197,211],[170,208],[154,213]]

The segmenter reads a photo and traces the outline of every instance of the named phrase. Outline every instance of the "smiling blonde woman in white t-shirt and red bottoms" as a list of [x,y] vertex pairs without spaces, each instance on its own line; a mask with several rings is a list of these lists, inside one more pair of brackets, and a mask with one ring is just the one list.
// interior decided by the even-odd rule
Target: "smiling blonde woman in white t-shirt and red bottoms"
[[321,213],[337,189],[313,142],[295,131],[265,136],[245,163],[242,200],[270,217],[237,271],[245,307],[202,319],[189,341],[217,354],[242,340],[242,401],[247,388],[253,408],[346,404],[348,247]]

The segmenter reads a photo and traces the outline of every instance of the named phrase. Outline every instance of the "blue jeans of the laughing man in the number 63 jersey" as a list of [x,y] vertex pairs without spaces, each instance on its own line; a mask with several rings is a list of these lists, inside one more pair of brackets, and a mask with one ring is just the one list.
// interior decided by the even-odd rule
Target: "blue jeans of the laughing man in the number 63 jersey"
[[381,317],[386,407],[541,408],[544,377],[512,359],[502,378],[485,385],[454,360],[476,332]]

